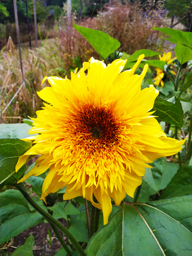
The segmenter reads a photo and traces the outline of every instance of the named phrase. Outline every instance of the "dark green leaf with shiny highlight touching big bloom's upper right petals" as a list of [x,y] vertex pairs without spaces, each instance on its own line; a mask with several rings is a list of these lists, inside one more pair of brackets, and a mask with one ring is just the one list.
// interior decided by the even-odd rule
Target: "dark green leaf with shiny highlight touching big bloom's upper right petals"
[[169,122],[179,128],[183,126],[183,109],[181,102],[175,96],[169,100],[157,97],[151,111],[155,111],[154,115],[157,116],[158,122]]

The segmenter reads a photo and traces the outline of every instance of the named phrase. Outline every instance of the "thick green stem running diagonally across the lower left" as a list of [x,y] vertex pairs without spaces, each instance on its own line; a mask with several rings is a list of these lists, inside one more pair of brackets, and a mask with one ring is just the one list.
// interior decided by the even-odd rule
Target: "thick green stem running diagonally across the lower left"
[[35,208],[41,215],[43,215],[43,217],[48,222],[55,225],[58,229],[60,229],[66,235],[66,237],[71,241],[71,243],[73,244],[73,246],[75,247],[75,249],[77,250],[77,252],[80,255],[82,255],[82,256],[86,255],[86,253],[81,248],[80,244],[77,242],[75,237],[73,237],[71,232],[68,231],[68,229],[60,223],[60,221],[53,218],[53,216],[51,216],[51,214],[47,213],[47,211],[43,210],[40,205],[36,204],[36,202],[31,198],[31,196],[29,196],[29,194],[25,190],[23,184],[12,184],[12,185],[15,186],[23,194],[24,198],[26,198],[26,200],[29,202],[29,204],[31,204],[33,206],[33,208]]

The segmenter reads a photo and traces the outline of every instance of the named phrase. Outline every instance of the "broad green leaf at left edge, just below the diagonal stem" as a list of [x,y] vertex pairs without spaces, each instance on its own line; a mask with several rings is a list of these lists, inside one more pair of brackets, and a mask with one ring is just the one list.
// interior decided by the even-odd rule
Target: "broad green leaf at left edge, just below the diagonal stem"
[[20,191],[6,190],[0,194],[0,197],[0,244],[43,221],[44,218],[40,213],[29,210],[27,201]]

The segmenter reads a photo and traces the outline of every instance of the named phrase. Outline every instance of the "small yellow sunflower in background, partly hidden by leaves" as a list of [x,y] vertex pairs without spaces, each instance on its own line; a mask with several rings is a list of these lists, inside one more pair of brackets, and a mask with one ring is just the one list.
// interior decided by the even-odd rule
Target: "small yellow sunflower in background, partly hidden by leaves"
[[[173,63],[173,60],[175,60],[175,58],[171,58],[171,52],[168,52],[161,57],[159,55],[160,61],[165,61],[168,65]],[[171,73],[173,73],[174,75],[175,72],[171,70]],[[164,78],[164,72],[163,70],[161,70],[160,68],[156,68],[156,77],[154,78],[155,83],[154,85],[158,86],[159,84],[161,84],[161,88],[164,86],[164,82],[163,82],[163,78]]]

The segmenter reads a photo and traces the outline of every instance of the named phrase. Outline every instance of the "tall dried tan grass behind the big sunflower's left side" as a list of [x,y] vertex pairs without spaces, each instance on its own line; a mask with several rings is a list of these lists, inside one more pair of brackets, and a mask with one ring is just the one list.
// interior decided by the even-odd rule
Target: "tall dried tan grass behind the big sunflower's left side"
[[[48,42],[47,42],[48,43]],[[40,109],[42,101],[36,91],[40,91],[44,76],[65,76],[63,61],[58,54],[57,43],[37,48],[35,51],[22,49],[22,64],[24,86],[17,97],[8,105],[23,78],[19,65],[18,51],[14,48],[9,51],[2,50],[0,55],[0,85],[1,85],[1,118],[5,123],[21,121],[21,118],[35,116],[36,110]],[[17,118],[16,118],[17,117]]]

